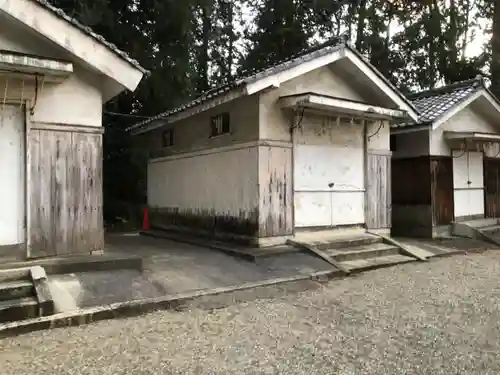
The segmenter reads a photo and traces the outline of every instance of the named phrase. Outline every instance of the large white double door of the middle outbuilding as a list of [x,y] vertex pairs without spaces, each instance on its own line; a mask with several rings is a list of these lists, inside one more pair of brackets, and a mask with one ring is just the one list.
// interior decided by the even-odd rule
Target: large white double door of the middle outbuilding
[[296,227],[365,222],[361,147],[294,145]]

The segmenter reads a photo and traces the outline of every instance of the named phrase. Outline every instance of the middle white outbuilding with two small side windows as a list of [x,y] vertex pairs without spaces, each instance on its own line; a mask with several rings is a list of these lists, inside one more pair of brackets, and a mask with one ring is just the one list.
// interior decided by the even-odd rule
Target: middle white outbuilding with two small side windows
[[129,130],[150,156],[153,226],[265,246],[299,230],[388,232],[389,124],[417,118],[337,40]]

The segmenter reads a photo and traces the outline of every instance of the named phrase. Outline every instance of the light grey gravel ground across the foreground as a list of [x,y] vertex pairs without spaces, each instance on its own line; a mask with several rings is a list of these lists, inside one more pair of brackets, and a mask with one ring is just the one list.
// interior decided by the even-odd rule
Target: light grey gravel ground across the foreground
[[2,375],[498,374],[500,252],[0,341]]

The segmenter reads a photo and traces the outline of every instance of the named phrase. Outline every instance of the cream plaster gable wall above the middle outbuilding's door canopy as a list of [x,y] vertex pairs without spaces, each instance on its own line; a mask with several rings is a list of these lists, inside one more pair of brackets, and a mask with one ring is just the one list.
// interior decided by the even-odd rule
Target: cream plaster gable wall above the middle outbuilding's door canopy
[[325,66],[282,84],[278,89],[264,92],[259,100],[260,138],[290,141],[291,116],[283,111],[277,100],[280,96],[314,92],[351,100],[362,100],[348,82],[330,67]]

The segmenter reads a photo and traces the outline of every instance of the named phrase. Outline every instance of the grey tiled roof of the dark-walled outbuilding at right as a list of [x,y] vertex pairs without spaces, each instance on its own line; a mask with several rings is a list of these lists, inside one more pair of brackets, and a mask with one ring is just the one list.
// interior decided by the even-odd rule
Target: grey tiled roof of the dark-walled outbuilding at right
[[481,77],[467,81],[456,82],[451,85],[422,91],[409,95],[408,98],[419,113],[419,121],[401,123],[395,127],[429,124],[437,120],[452,107],[467,99],[477,90],[485,88]]

